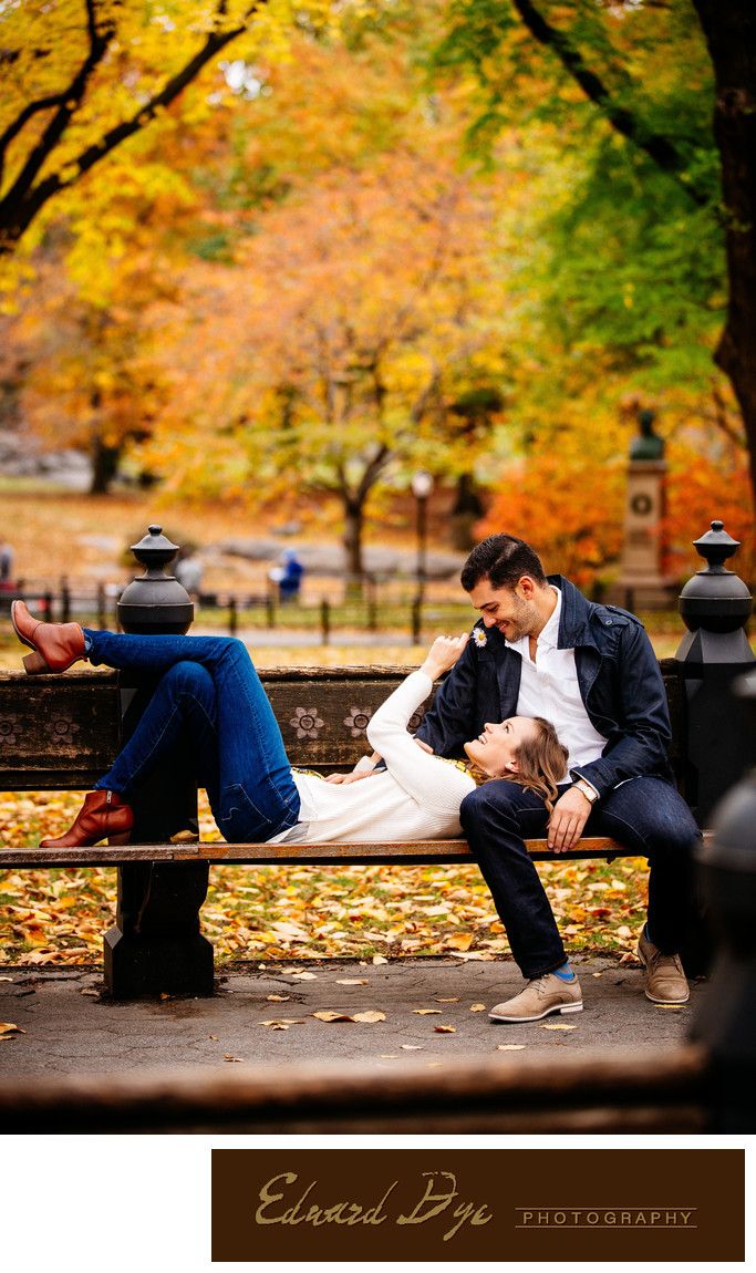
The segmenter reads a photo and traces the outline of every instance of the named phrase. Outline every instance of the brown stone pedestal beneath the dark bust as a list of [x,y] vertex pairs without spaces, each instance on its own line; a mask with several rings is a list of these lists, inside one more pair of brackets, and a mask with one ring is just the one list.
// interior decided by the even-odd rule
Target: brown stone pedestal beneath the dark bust
[[610,600],[627,610],[667,606],[676,596],[675,579],[662,568],[666,474],[663,460],[631,460],[627,468],[625,546],[610,589]]

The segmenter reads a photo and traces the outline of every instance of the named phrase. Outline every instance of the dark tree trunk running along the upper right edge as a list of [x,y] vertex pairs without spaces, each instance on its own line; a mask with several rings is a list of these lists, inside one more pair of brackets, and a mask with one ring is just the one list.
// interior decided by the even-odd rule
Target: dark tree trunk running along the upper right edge
[[694,0],[715,78],[729,303],[715,359],[729,377],[748,442],[756,502],[756,6]]

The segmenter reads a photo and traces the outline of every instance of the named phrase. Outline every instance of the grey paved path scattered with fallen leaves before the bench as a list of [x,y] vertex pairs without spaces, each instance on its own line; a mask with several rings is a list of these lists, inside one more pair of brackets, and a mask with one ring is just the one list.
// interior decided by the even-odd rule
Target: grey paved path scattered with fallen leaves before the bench
[[[620,967],[608,959],[588,959],[577,967],[584,1011],[532,1025],[487,1020],[493,1004],[522,988],[509,960],[244,965],[219,979],[213,998],[137,1003],[101,998],[102,975],[94,969],[6,967],[0,969],[0,1020],[25,1032],[0,1046],[0,1080],[168,1067],[182,1072],[244,1064],[277,1069],[289,1062],[316,1060],[354,1060],[378,1069],[407,1060],[443,1067],[447,1059],[507,1055],[499,1051],[501,1045],[521,1062],[582,1049],[652,1057],[685,1040],[705,993],[703,983],[695,984],[689,1006],[659,1008],[645,999],[638,967]],[[302,971],[312,976],[303,978]],[[360,984],[344,984],[349,981]],[[473,1011],[481,1003],[485,1009]],[[433,1013],[417,1012],[428,1008]],[[325,1022],[313,1016],[323,1011],[375,1011],[386,1020]],[[280,1030],[266,1021],[297,1023]],[[454,1031],[439,1032],[442,1025]]]

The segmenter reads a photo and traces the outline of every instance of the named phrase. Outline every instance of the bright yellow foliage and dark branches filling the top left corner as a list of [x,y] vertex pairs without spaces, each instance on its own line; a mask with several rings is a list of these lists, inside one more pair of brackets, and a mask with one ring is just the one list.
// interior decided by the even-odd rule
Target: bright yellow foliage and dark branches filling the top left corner
[[[331,20],[323,0],[24,0],[0,8],[0,256],[59,196],[160,121],[241,37]],[[255,47],[255,43],[252,43]]]

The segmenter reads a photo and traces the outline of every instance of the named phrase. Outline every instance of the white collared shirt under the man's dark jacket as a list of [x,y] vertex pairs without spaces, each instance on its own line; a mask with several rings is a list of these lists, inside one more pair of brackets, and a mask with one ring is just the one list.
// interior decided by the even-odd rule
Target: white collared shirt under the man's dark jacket
[[561,592],[554,584],[550,587],[556,593],[556,606],[538,635],[536,659],[531,658],[528,636],[507,644],[522,657],[517,714],[551,721],[559,741],[569,750],[568,769],[574,769],[598,760],[606,738],[593,728],[580,698],[574,648],[557,648]]

